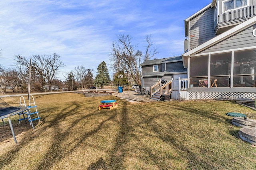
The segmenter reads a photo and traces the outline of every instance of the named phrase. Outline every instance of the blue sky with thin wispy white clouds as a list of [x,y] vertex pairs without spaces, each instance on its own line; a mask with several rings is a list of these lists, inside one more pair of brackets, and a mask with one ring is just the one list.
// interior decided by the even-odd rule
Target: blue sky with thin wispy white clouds
[[[14,65],[14,55],[58,53],[65,72],[83,64],[94,69],[109,61],[112,42],[128,34],[145,50],[152,35],[156,58],[184,53],[184,20],[211,0],[2,0],[0,49],[2,66]],[[14,67],[14,66],[11,66]]]

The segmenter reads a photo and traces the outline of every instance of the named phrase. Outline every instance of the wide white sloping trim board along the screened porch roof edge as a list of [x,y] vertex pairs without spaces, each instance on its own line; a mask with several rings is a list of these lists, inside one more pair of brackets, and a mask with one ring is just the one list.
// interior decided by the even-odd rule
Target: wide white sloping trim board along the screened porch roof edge
[[231,37],[232,35],[242,31],[243,29],[249,27],[250,25],[253,25],[256,23],[256,16],[252,17],[251,19],[244,21],[243,23],[229,29],[228,31],[218,35],[217,37],[214,37],[210,39],[209,41],[206,41],[202,45],[199,45],[198,47],[188,51],[187,53],[184,53],[183,56],[188,56],[188,55],[193,55],[195,53],[199,53],[200,51],[228,38]]

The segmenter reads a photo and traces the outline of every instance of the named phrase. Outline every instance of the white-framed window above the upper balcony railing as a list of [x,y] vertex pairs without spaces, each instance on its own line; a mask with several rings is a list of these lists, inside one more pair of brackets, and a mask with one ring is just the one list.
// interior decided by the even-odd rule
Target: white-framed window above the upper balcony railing
[[244,6],[248,6],[249,0],[226,0],[222,2],[223,10],[222,12],[227,12],[230,10],[234,10],[236,8],[241,8]]

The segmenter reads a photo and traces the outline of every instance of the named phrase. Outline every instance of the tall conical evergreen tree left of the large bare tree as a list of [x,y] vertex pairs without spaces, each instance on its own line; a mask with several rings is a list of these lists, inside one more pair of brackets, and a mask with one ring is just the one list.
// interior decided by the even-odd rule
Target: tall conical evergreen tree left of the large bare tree
[[94,84],[100,86],[107,86],[110,83],[110,76],[108,74],[108,67],[106,63],[102,61],[97,68],[97,76],[95,77]]

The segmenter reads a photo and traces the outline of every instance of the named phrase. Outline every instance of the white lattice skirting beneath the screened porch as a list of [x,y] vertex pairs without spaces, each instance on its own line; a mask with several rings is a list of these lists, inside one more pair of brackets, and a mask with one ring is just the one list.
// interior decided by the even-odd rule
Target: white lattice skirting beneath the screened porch
[[235,92],[188,92],[189,100],[195,99],[215,99],[219,96],[229,98],[250,98],[255,99],[256,93],[235,93]]

